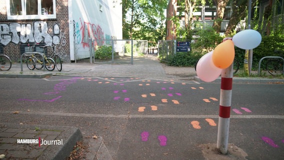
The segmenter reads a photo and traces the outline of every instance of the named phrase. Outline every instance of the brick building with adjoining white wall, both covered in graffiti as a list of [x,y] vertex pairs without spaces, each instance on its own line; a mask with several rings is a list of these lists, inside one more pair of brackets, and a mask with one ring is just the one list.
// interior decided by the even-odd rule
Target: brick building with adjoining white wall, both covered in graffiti
[[57,44],[66,60],[107,39],[122,39],[121,0],[0,0],[2,52],[18,60],[27,43]]

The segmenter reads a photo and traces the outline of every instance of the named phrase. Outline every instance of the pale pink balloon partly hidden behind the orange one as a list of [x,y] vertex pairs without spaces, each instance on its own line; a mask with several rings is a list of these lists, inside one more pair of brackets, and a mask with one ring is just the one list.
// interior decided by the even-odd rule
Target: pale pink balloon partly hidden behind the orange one
[[220,74],[222,69],[214,65],[212,60],[213,51],[210,51],[203,55],[196,65],[197,76],[205,81],[214,81]]

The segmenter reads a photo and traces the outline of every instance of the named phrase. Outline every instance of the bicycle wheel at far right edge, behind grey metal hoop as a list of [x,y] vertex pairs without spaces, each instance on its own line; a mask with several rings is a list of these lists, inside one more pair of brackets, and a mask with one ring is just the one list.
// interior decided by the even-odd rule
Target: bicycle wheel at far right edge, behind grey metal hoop
[[279,59],[270,59],[267,61],[266,69],[271,75],[283,74],[283,63]]

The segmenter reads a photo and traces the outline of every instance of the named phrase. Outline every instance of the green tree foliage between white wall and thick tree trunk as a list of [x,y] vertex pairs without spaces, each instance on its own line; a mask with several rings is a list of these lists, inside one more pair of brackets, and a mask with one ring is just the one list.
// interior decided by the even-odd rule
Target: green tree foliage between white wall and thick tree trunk
[[166,6],[167,0],[122,0],[123,38],[162,39]]

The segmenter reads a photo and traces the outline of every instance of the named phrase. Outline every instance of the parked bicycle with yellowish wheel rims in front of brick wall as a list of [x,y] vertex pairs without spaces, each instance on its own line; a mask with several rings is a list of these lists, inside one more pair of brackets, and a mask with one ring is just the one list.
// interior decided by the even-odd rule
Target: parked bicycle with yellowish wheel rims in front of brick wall
[[[34,43],[32,46],[29,46],[29,44],[27,44],[28,49],[32,48],[32,50],[33,50],[35,44],[36,43]],[[43,64],[44,64],[44,67],[47,70],[49,70],[49,71],[54,70],[55,62],[52,58],[46,57],[46,55],[44,54],[44,50],[43,50],[42,53],[40,53],[43,56],[43,59],[42,59],[42,57],[36,57],[35,53],[38,53],[38,52],[29,53],[29,58],[26,60],[26,66],[30,70],[33,70],[34,68],[41,69],[43,67]],[[44,62],[43,62],[43,60],[44,60]]]

